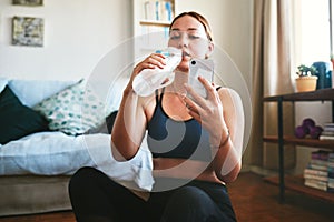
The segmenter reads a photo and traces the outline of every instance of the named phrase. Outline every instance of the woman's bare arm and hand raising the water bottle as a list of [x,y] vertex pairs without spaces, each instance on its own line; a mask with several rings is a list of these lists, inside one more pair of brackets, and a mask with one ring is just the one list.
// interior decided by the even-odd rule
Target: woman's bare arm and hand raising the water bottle
[[122,100],[112,127],[111,151],[116,160],[130,160],[140,148],[147,125],[145,101],[147,98],[138,97],[132,89],[135,77],[144,69],[163,68],[165,57],[153,53],[139,62],[124,90]]

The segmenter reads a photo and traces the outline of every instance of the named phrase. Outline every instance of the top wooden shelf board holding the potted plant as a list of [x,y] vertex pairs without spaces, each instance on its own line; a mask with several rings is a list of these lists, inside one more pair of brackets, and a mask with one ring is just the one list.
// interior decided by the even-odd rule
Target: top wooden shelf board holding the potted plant
[[291,94],[281,94],[273,97],[265,97],[263,101],[321,101],[321,100],[334,100],[334,89],[321,89],[311,92],[297,92]]

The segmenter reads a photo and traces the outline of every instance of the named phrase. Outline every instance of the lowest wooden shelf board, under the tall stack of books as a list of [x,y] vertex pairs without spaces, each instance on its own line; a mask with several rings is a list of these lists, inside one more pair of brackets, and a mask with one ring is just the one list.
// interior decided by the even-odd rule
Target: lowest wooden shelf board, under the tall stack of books
[[[279,184],[279,180],[277,176],[265,178],[264,180],[275,185]],[[328,201],[332,203],[334,202],[334,193],[316,190],[304,185],[304,179],[302,175],[298,176],[286,175],[285,188],[324,201]]]

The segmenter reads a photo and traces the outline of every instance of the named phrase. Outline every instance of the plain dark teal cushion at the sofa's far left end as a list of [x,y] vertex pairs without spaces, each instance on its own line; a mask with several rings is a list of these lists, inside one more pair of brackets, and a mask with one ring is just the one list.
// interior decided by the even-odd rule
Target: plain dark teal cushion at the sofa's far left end
[[0,93],[0,143],[20,139],[33,132],[47,131],[48,121],[23,105],[9,87]]

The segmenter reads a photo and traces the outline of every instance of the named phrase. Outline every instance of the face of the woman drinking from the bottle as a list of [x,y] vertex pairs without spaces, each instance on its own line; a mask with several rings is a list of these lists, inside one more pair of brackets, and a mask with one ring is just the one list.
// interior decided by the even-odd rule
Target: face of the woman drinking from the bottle
[[168,46],[183,50],[183,60],[177,69],[184,72],[188,72],[191,58],[206,59],[214,49],[204,26],[190,16],[184,16],[174,22]]

